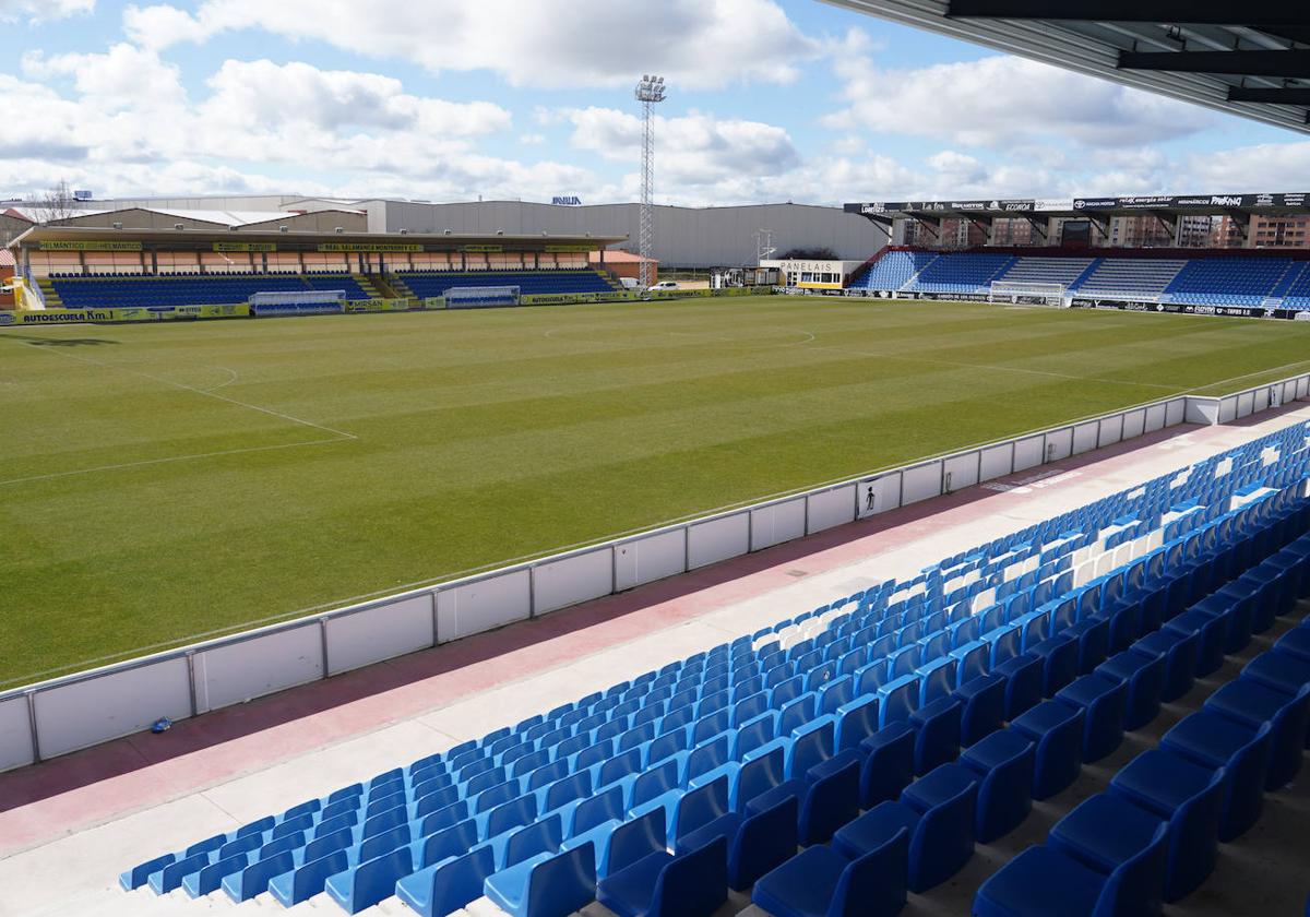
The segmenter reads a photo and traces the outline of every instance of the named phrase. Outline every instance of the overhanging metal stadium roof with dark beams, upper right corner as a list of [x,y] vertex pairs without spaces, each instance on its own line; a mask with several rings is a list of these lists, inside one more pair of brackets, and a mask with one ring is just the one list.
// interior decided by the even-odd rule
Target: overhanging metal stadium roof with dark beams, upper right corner
[[827,0],[1310,134],[1305,0]]

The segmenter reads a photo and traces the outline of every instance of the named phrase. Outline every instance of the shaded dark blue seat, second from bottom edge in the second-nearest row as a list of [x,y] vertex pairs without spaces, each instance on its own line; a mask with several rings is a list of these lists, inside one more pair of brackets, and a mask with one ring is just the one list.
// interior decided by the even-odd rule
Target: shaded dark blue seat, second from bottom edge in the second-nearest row
[[908,829],[908,886],[912,892],[925,892],[955,875],[973,855],[977,789],[977,777],[967,768],[943,764],[910,783],[900,800],[879,803],[837,831],[833,850],[854,859]]

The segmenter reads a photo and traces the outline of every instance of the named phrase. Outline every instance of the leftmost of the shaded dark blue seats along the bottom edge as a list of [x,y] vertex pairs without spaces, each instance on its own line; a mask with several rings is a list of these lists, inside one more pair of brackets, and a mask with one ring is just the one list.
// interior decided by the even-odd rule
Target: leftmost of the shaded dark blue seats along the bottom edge
[[652,853],[612,871],[596,886],[596,900],[618,917],[710,917],[727,891],[727,840],[717,836],[696,850]]

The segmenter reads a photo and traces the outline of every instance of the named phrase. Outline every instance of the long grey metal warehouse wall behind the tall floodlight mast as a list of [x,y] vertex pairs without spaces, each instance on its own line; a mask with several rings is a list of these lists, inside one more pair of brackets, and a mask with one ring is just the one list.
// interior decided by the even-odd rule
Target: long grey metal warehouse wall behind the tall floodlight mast
[[[443,232],[506,234],[593,233],[627,236],[635,249],[637,204],[557,207],[519,200],[428,204],[405,200],[385,203],[385,223],[369,223],[377,232]],[[372,208],[368,207],[372,216]],[[875,224],[836,207],[758,204],[749,207],[656,207],[655,258],[667,267],[727,267],[756,263],[760,228],[773,229],[773,246],[831,248],[837,258],[863,261],[887,244]]]

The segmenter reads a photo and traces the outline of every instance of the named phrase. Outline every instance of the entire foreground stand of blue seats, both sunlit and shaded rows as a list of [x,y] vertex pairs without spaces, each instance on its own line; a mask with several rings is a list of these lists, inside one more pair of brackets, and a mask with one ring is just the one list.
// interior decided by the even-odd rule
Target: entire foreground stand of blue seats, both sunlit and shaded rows
[[[896,913],[1310,592],[1310,424],[872,584],[479,740],[166,853],[126,889],[348,913]],[[975,913],[1150,913],[1290,781],[1294,627],[980,888]],[[962,748],[964,749],[962,753]],[[287,800],[291,802],[291,800]],[[798,844],[806,849],[796,852]]]

